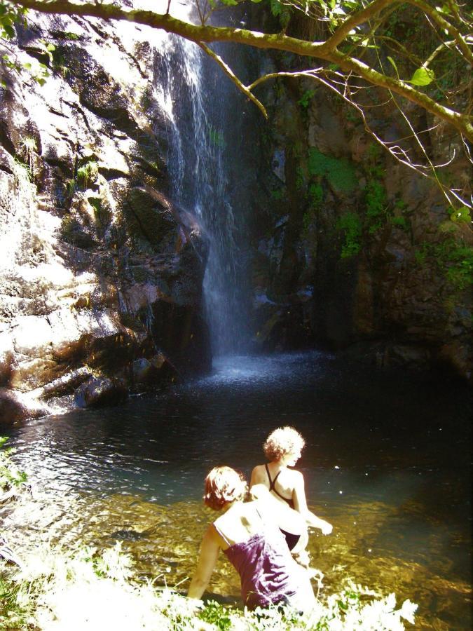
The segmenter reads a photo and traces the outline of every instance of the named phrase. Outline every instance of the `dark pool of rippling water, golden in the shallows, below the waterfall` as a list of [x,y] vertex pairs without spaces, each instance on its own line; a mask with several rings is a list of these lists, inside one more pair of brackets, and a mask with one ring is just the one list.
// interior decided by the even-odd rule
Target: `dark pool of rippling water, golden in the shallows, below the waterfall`
[[[301,430],[309,503],[334,524],[314,531],[325,589],[345,576],[419,604],[416,628],[471,627],[469,405],[403,375],[340,365],[321,353],[221,360],[214,374],[120,408],[32,421],[15,430],[39,494],[27,520],[53,541],[122,541],[142,574],[185,582],[212,512],[200,503],[210,467],[247,475],[275,426]],[[13,525],[12,525],[13,528]],[[210,591],[238,599],[224,555]]]

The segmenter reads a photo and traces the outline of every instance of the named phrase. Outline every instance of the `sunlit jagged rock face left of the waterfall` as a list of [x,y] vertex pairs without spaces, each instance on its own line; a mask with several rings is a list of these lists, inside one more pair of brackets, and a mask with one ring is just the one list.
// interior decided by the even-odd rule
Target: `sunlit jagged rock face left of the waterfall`
[[[123,384],[141,384],[146,360],[153,385],[210,363],[201,317],[207,247],[167,199],[149,34],[68,18],[29,24],[13,48],[50,76],[41,86],[7,72],[0,88],[5,421],[45,412],[51,397],[76,388],[88,405],[81,383],[90,379],[120,379],[122,396]],[[27,398],[14,405],[19,393]]]

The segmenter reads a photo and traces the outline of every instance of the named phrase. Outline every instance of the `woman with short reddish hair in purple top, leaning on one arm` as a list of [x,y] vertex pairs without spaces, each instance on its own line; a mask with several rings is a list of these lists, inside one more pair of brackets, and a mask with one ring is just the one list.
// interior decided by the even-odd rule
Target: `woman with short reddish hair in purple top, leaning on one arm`
[[294,561],[280,531],[292,519],[292,509],[264,487],[256,491],[258,498],[245,502],[245,478],[230,467],[215,467],[205,478],[204,502],[221,515],[205,532],[188,597],[203,596],[223,550],[240,575],[242,600],[249,609],[285,604],[308,611],[315,604],[308,573]]

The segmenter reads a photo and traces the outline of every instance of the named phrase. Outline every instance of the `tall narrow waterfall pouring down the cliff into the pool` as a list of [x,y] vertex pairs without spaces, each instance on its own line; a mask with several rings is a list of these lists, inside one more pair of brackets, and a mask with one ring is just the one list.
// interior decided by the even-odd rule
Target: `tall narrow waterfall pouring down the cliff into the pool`
[[161,38],[156,98],[170,130],[170,195],[196,216],[208,241],[203,292],[212,353],[242,354],[249,349],[249,292],[245,209],[235,208],[235,188],[245,182],[238,182],[244,156],[240,112],[234,111],[244,108],[235,86],[196,44],[168,34]]

